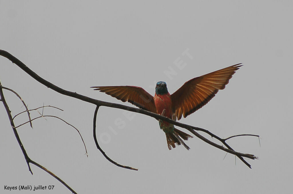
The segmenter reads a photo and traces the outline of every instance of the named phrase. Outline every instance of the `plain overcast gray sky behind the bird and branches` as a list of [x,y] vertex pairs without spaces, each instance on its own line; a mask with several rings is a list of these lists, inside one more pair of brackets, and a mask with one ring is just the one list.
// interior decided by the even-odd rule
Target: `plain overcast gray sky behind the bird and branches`
[[[47,118],[34,121],[33,130],[18,128],[28,155],[78,193],[290,193],[292,6],[291,1],[1,1],[0,49],[53,84],[99,100],[122,103],[90,86],[134,85],[154,94],[154,83],[166,81],[173,93],[189,79],[243,63],[226,89],[180,122],[219,137],[261,137],[261,147],[256,137],[228,142],[259,157],[247,160],[249,169],[239,159],[235,166],[231,154],[223,160],[225,152],[197,138],[186,142],[189,151],[183,146],[169,151],[157,120],[101,107],[101,147],[111,159],[139,171],[122,169],[95,147],[94,105],[47,89],[0,57],[3,86],[17,91],[29,108],[43,103],[62,108],[44,113],[77,127],[89,154],[73,128]],[[193,59],[182,55],[187,49]],[[185,67],[178,69],[176,60]],[[176,75],[168,76],[172,69]],[[4,94],[13,115],[24,110],[15,96]],[[26,120],[24,114],[15,122]],[[121,120],[125,125],[115,125]],[[0,193],[32,192],[7,191],[5,185],[54,185],[53,191],[38,193],[70,193],[33,165],[31,176],[2,105],[0,123]]]

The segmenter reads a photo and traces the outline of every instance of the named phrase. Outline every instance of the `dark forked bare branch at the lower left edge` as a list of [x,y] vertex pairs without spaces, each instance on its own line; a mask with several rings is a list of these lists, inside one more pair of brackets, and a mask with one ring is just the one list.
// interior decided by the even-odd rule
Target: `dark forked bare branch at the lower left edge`
[[33,175],[33,172],[32,172],[32,170],[30,169],[30,163],[31,163],[31,164],[34,164],[35,166],[38,166],[39,168],[43,169],[44,171],[46,171],[47,173],[49,173],[51,176],[53,176],[54,178],[56,178],[60,183],[62,183],[66,188],[68,188],[72,193],[76,193],[71,187],[69,187],[69,186],[68,186],[64,181],[62,181],[58,176],[56,176],[56,175],[53,174],[51,171],[47,170],[44,166],[38,164],[37,162],[31,160],[30,157],[28,157],[28,154],[27,154],[26,151],[25,151],[25,148],[24,148],[24,146],[23,146],[23,144],[22,144],[22,142],[21,142],[21,140],[20,140],[20,137],[19,137],[18,132],[17,132],[17,130],[16,130],[16,127],[15,127],[15,125],[14,125],[14,122],[13,122],[13,119],[12,119],[12,115],[11,115],[11,111],[10,111],[10,109],[9,109],[9,107],[8,107],[8,104],[7,104],[6,100],[5,100],[5,97],[4,97],[3,89],[2,89],[2,88],[3,88],[3,87],[2,87],[1,82],[0,82],[0,96],[1,96],[1,101],[2,101],[2,103],[3,103],[3,105],[4,105],[4,108],[5,108],[6,113],[7,113],[7,115],[8,115],[8,118],[9,118],[10,125],[11,125],[11,127],[12,127],[12,130],[13,130],[13,133],[14,133],[14,135],[15,135],[15,137],[16,137],[16,140],[17,140],[17,142],[18,142],[18,145],[19,145],[19,147],[21,148],[21,151],[22,151],[22,153],[23,153],[23,155],[24,155],[24,158],[25,158],[26,164],[28,165],[28,170],[30,171],[30,173]]

